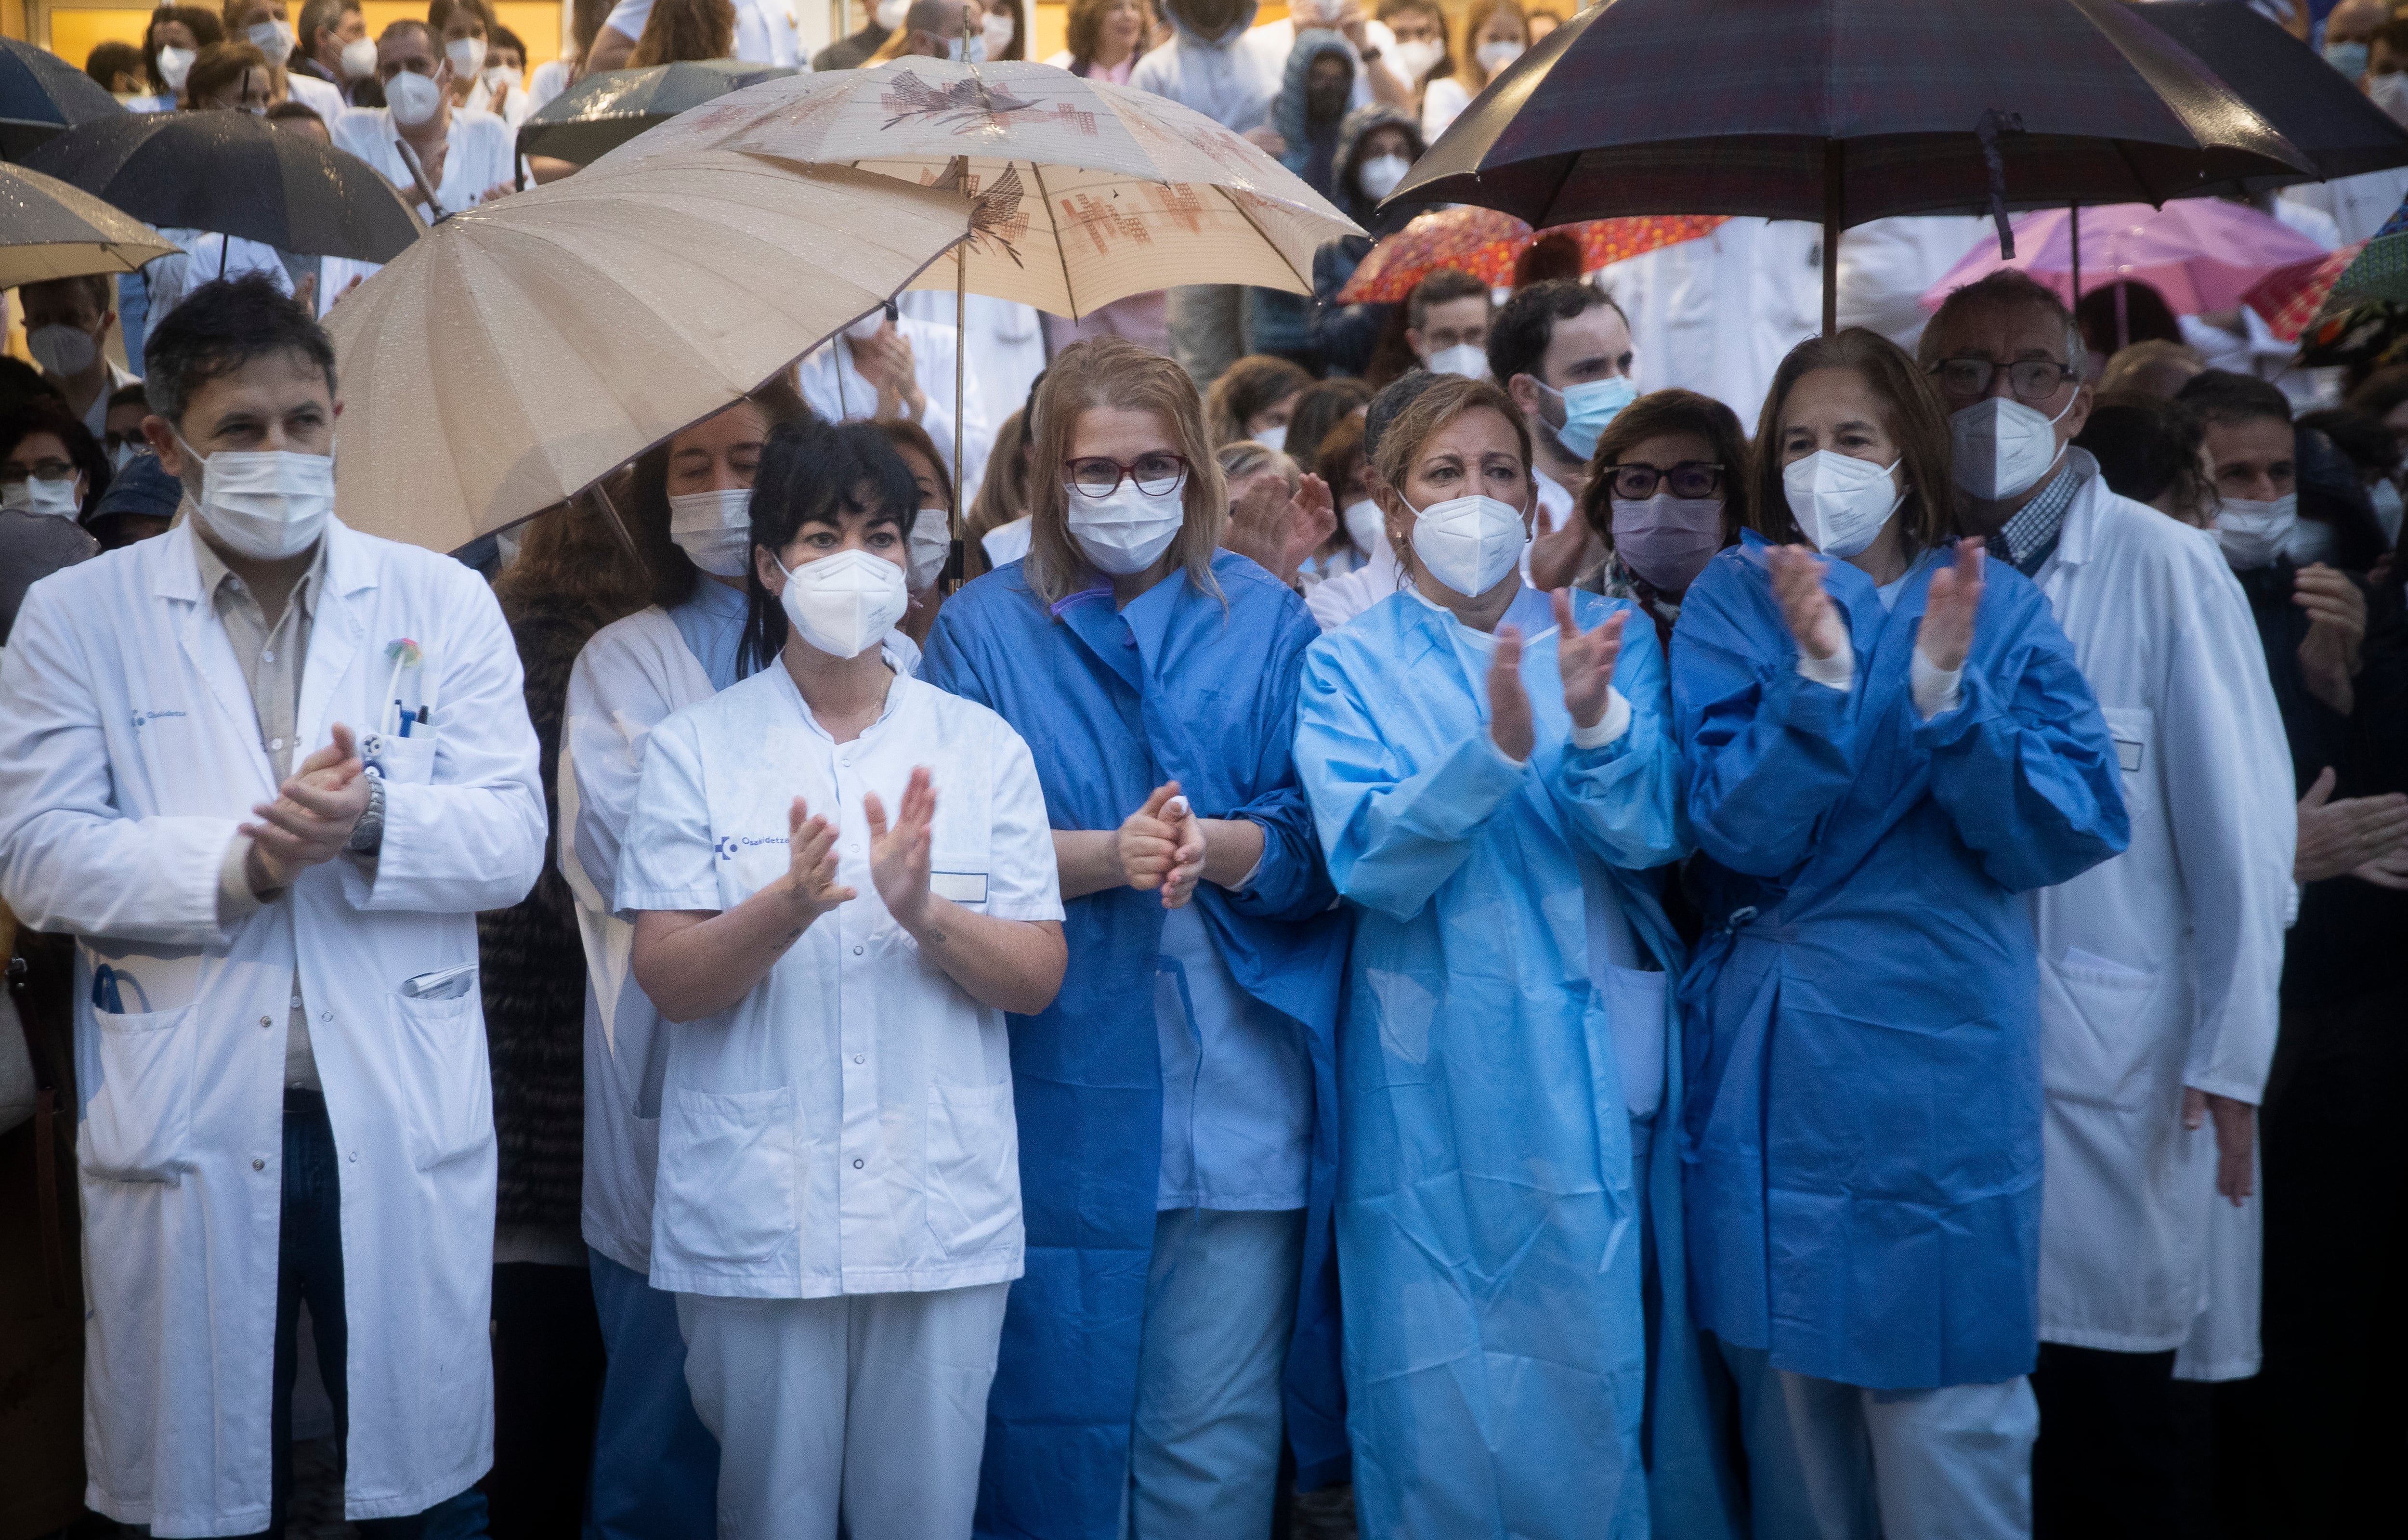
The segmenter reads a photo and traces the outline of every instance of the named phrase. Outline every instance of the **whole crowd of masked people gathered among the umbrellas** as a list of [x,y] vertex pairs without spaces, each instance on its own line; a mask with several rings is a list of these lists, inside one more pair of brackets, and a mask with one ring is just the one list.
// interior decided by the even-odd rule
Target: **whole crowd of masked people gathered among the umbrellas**
[[[92,72],[441,217],[585,72],[1028,19],[597,0],[527,75],[229,0]],[[2384,1523],[2408,320],[1926,310],[1955,219],[1828,337],[1767,221],[1339,303],[1556,17],[1252,22],[1050,63],[1353,214],[1312,296],[901,296],[448,556],[342,520],[366,265],[17,291],[0,1538],[284,1535],[313,1427],[364,1535]],[[2408,22],[2321,48],[2408,120]]]

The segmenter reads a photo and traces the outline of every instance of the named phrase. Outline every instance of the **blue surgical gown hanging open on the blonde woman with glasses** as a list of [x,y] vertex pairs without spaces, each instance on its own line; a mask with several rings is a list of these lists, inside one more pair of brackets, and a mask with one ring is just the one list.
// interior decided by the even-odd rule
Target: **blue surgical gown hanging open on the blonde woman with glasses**
[[[925,676],[1019,729],[1060,830],[1120,828],[1165,780],[1204,818],[1262,825],[1245,893],[1199,883],[1194,902],[1238,984],[1310,1047],[1312,1218],[1286,1388],[1298,1485],[1312,1487],[1346,1468],[1329,1263],[1346,919],[1291,748],[1296,676],[1320,626],[1243,556],[1218,553],[1211,573],[1221,594],[1173,573],[1127,609],[1105,590],[1055,616],[1009,563],[946,599]],[[987,1396],[980,1535],[1120,1533],[1163,1143],[1163,914],[1158,893],[1134,888],[1072,900],[1062,994],[1009,1018],[1028,1273],[1011,1285]]]

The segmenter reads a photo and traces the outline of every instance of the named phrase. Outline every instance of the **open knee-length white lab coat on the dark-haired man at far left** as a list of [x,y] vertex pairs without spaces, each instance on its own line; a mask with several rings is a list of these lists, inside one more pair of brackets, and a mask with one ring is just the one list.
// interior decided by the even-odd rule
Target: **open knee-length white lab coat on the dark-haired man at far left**
[[[0,667],[0,893],[82,943],[87,1502],[164,1535],[267,1526],[296,967],[342,1160],[344,1514],[417,1514],[494,1458],[484,1011],[474,987],[400,987],[474,965],[477,910],[535,883],[535,729],[472,570],[340,522],[325,539],[296,744],[378,727],[397,638],[424,650],[400,693],[431,729],[383,744],[383,854],[311,866],[231,934],[219,864],[277,777],[190,525],[36,582]],[[96,960],[130,975],[128,1013],[92,1006]]]

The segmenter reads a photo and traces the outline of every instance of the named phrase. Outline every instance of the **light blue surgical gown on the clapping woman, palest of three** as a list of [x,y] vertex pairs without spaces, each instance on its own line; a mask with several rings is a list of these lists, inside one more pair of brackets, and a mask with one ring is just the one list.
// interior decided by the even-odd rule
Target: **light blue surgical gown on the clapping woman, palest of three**
[[[1529,635],[1536,748],[1488,736],[1493,638],[1397,594],[1305,657],[1296,763],[1356,914],[1339,1030],[1339,1278],[1346,1295],[1356,1514],[1375,1540],[1633,1538],[1647,1391],[1640,1194],[1589,893],[1659,967],[1678,967],[1649,871],[1683,852],[1678,753],[1654,626],[1625,611],[1616,688],[1630,727],[1570,746],[1544,597]],[[1662,1023],[1657,1023],[1662,1030]],[[1674,1080],[1678,1085],[1678,1080]],[[1657,1162],[1666,1169],[1669,1162]],[[1664,1437],[1700,1499],[1666,1535],[1727,1533],[1683,1323],[1683,1429]]]

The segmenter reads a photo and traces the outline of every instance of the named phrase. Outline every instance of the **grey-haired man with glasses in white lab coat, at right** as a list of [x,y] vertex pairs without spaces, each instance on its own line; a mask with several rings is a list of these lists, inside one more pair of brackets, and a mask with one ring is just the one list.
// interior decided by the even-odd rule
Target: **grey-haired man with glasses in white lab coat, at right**
[[2297,835],[2283,719],[2215,544],[2114,496],[2071,448],[2090,387],[2054,294],[2020,272],[1958,289],[1922,363],[1950,409],[1965,520],[2049,597],[2131,813],[2131,849],[2030,895],[2047,1162],[2032,1528],[2170,1533],[2174,1350],[2211,1307],[2218,1194],[2251,1191],[2273,1061]]

